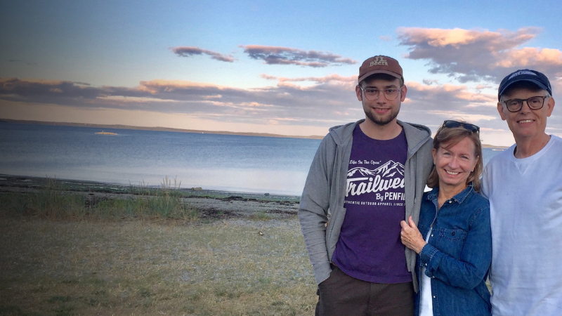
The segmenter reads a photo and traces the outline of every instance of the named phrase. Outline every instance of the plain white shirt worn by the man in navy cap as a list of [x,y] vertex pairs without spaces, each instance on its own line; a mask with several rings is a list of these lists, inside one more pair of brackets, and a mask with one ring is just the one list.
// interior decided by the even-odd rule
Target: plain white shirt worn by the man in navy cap
[[515,145],[490,159],[492,315],[562,315],[562,138],[516,159]]

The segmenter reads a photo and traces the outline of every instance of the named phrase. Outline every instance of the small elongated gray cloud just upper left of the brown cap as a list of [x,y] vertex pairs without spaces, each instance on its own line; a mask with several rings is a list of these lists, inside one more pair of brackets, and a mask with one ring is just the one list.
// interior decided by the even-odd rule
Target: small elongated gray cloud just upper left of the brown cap
[[327,67],[342,64],[355,64],[356,60],[342,58],[322,51],[304,51],[298,48],[279,46],[247,45],[241,46],[250,58],[263,60],[268,65],[299,65],[303,67]]

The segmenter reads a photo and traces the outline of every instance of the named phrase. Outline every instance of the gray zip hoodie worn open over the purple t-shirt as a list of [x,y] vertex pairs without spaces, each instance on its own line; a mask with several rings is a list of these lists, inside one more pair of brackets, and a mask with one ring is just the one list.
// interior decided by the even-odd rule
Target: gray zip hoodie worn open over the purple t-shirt
[[[332,272],[330,262],[346,216],[344,199],[353,129],[362,121],[364,120],[335,126],[329,130],[316,151],[304,185],[299,220],[317,284],[327,279]],[[417,124],[402,121],[398,121],[398,124],[404,129],[408,148],[404,174],[405,220],[412,216],[417,223],[421,195],[433,166],[431,131],[426,126]],[[407,269],[412,273],[414,290],[417,292],[414,268],[416,254],[406,248],[405,256]]]

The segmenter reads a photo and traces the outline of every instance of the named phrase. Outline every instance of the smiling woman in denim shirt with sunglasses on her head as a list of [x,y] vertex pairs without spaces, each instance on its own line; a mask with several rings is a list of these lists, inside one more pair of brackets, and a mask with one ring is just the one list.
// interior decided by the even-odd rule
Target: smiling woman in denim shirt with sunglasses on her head
[[485,279],[492,260],[490,206],[480,191],[480,128],[445,121],[433,139],[433,170],[419,223],[400,223],[403,244],[416,251],[416,314],[490,315]]

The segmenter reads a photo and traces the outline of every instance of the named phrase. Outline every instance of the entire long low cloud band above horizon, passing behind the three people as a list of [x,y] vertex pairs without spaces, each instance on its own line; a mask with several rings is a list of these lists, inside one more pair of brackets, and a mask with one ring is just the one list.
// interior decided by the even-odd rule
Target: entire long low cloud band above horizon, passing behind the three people
[[[138,86],[88,86],[71,81],[0,79],[0,103],[10,107],[62,105],[69,110],[130,110],[185,114],[220,124],[261,124],[329,128],[365,117],[355,96],[355,76],[274,77],[259,88],[235,88],[191,81],[150,80]],[[407,98],[399,119],[430,126],[435,132],[444,119],[463,118],[485,131],[504,130],[495,93],[462,84],[406,83]],[[131,112],[133,113],[133,112]],[[555,113],[556,114],[556,113]],[[562,131],[562,117],[549,117],[549,133]],[[486,140],[486,139],[485,139]],[[488,143],[495,143],[488,138]]]

